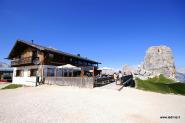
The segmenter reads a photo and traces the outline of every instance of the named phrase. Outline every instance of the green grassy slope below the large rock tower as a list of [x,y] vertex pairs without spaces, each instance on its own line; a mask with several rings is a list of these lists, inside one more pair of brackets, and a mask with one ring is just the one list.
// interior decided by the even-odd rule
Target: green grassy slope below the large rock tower
[[137,89],[159,92],[159,93],[174,93],[185,95],[185,83],[179,83],[168,79],[163,75],[154,77],[148,80],[136,79]]

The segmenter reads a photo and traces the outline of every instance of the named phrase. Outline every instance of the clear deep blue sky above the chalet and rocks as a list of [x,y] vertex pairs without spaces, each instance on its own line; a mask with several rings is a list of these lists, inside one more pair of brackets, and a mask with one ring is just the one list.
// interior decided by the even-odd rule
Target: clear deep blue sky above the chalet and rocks
[[16,39],[86,56],[102,66],[137,65],[167,45],[185,67],[183,0],[0,0],[0,60]]

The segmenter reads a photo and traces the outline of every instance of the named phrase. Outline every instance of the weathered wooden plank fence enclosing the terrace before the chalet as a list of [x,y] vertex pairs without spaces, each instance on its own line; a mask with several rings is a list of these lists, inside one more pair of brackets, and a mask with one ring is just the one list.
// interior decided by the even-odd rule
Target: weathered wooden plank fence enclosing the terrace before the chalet
[[56,84],[62,86],[76,86],[83,88],[93,88],[93,77],[45,77],[46,84]]

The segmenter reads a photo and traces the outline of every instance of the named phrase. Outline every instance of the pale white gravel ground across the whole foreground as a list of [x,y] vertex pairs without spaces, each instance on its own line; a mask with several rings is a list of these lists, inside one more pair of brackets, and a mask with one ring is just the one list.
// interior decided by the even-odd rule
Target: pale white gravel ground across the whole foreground
[[[160,119],[160,116],[180,119]],[[0,90],[1,123],[185,123],[185,97],[132,88]]]

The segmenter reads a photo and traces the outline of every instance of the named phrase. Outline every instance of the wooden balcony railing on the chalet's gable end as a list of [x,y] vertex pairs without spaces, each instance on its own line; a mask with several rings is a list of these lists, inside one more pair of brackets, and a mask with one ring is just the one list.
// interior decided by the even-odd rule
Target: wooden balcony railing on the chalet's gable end
[[25,58],[20,58],[16,60],[11,61],[11,66],[16,66],[16,65],[24,65],[24,64],[32,64],[33,59],[32,57],[25,57]]

